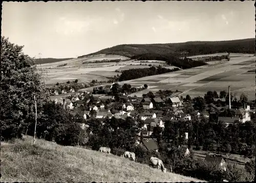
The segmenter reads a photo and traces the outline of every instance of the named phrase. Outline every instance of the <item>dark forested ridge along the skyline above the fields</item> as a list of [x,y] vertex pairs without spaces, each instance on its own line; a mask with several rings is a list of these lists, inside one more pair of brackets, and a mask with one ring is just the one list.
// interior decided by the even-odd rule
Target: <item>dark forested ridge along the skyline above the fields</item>
[[255,38],[231,41],[190,41],[166,44],[121,44],[78,58],[97,54],[121,55],[130,58],[137,55],[153,53],[161,55],[174,54],[176,56],[194,56],[223,52],[254,54],[254,47]]

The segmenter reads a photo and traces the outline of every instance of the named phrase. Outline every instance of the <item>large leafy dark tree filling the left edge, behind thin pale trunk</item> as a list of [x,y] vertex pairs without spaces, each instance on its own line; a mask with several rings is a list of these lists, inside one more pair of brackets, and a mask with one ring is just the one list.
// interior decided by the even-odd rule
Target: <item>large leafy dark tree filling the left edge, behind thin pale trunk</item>
[[22,49],[1,37],[1,140],[21,137],[29,124],[35,124],[34,117],[26,120],[35,116],[34,97],[38,117],[41,105],[50,97],[41,74],[36,73],[34,60]]

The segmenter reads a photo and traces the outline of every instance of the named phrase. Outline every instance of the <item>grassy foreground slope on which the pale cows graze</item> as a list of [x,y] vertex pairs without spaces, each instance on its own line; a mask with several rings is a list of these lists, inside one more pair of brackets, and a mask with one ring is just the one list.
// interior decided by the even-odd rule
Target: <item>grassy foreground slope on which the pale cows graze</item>
[[113,154],[60,146],[32,137],[1,143],[1,181],[5,182],[187,182],[200,180],[163,173]]

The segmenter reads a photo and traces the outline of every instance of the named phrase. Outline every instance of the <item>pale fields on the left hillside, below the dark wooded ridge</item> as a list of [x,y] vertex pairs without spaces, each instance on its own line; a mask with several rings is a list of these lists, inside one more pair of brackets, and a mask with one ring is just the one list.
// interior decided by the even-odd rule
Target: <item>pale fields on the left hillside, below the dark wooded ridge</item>
[[[117,59],[121,61],[107,62]],[[100,63],[93,63],[95,61],[100,61]],[[157,60],[142,61],[141,63],[141,61],[129,60],[129,58],[123,56],[101,54],[67,61],[38,64],[36,66],[39,72],[47,72],[44,74],[46,84],[56,84],[57,82],[63,83],[76,79],[78,79],[78,82],[84,83],[90,83],[92,80],[109,81],[109,77],[120,75],[123,70],[148,68],[150,67],[149,65],[161,65],[164,67],[164,63],[164,61]],[[60,66],[62,64],[67,65]],[[174,68],[174,66],[167,66],[167,68]]]

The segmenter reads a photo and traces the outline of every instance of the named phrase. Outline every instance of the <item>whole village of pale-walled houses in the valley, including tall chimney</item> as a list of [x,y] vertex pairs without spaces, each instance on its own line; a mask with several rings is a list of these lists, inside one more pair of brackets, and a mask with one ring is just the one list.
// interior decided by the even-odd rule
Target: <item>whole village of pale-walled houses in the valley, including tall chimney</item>
[[[141,86],[141,89],[144,89],[144,87],[147,86]],[[142,121],[140,127],[139,125],[136,126],[138,137],[136,145],[143,146],[147,150],[156,152],[158,152],[159,147],[157,145],[157,139],[154,136],[154,128],[159,126],[162,130],[160,134],[162,134],[165,127],[165,121],[179,121],[186,123],[191,120],[200,121],[202,118],[206,120],[214,120],[216,114],[219,115],[224,113],[224,115],[217,115],[217,120],[223,121],[227,127],[229,124],[234,124],[236,122],[245,123],[246,121],[255,118],[255,107],[250,106],[249,102],[247,102],[248,104],[245,104],[244,102],[243,108],[231,106],[230,87],[228,88],[228,93],[224,96],[226,100],[228,99],[228,101],[230,101],[228,105],[222,104],[221,106],[216,100],[219,96],[215,96],[215,100],[212,100],[212,103],[205,105],[205,108],[201,108],[201,104],[198,103],[199,110],[195,110],[192,107],[193,103],[194,106],[195,103],[197,105],[195,99],[191,99],[190,96],[184,98],[182,96],[174,96],[175,93],[168,90],[159,91],[155,94],[148,92],[147,94],[143,94],[143,97],[137,97],[136,95],[131,96],[131,91],[133,91],[133,89],[131,89],[131,86],[127,87],[127,84],[120,86],[118,83],[113,83],[111,85],[101,86],[100,90],[106,90],[105,93],[108,93],[108,95],[95,94],[97,93],[97,90],[97,88],[94,88],[93,92],[84,91],[83,93],[80,93],[71,89],[66,98],[56,98],[54,99],[54,102],[56,104],[61,103],[63,109],[68,110],[75,119],[83,118],[85,121],[90,119],[98,120],[102,125],[108,123],[108,120],[113,117],[123,120],[127,117],[131,117],[134,120]],[[62,93],[63,92],[66,91],[62,91]],[[209,92],[207,92],[207,94],[209,94]],[[221,95],[223,94],[220,94],[220,96]],[[233,96],[231,97],[233,98]],[[207,99],[208,97],[205,98]],[[227,110],[230,110],[233,115],[225,115],[225,111]],[[89,129],[90,125],[81,123],[81,127],[83,129]],[[93,135],[92,131],[88,133]],[[141,140],[140,137],[142,137],[143,140]],[[185,132],[185,142],[187,141],[188,132]],[[180,148],[180,146],[178,148]],[[187,148],[186,145],[182,145],[181,148],[184,150],[185,154],[189,153],[189,148]],[[206,161],[219,162],[225,169],[225,161],[222,156],[216,156],[215,153],[208,153],[204,157]],[[202,158],[202,156],[199,154],[197,158]]]

